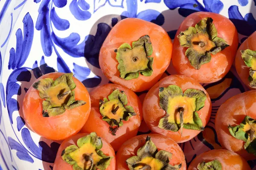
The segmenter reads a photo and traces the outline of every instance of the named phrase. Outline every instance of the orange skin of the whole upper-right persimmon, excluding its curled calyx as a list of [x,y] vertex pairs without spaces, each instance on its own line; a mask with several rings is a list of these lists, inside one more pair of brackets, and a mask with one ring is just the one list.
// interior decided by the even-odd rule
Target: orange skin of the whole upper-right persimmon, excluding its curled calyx
[[[185,56],[187,48],[181,47],[177,35],[185,31],[189,26],[195,26],[204,17],[211,17],[218,31],[218,37],[224,38],[230,45],[223,51],[212,55],[210,62],[201,65],[199,70],[190,65]],[[172,63],[178,74],[183,74],[195,79],[200,83],[217,82],[222,79],[230,70],[238,48],[238,34],[234,24],[226,17],[211,12],[195,12],[190,14],[181,23],[173,42]]]

